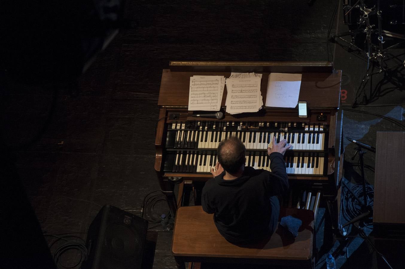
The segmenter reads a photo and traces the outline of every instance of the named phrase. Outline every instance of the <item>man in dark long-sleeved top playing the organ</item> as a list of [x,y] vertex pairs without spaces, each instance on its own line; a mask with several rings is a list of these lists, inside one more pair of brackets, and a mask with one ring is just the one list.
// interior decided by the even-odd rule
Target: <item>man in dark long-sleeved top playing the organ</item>
[[203,188],[203,210],[214,214],[215,225],[233,244],[249,243],[271,235],[280,212],[277,196],[288,190],[283,155],[287,140],[267,148],[271,172],[246,166],[246,149],[239,138],[223,140],[217,149],[218,162],[211,169],[213,179]]

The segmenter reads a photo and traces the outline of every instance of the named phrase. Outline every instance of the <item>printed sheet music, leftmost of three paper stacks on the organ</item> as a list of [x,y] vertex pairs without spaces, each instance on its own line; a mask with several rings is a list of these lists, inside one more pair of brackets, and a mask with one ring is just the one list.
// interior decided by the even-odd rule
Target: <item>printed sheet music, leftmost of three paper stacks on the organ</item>
[[190,77],[188,110],[220,110],[224,80],[223,76]]

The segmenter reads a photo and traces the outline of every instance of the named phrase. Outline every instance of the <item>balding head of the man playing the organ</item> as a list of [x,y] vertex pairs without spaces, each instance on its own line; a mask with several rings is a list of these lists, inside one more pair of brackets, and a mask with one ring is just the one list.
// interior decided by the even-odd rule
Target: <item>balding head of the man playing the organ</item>
[[217,150],[218,161],[225,171],[234,174],[239,171],[246,162],[246,148],[237,137],[223,140]]

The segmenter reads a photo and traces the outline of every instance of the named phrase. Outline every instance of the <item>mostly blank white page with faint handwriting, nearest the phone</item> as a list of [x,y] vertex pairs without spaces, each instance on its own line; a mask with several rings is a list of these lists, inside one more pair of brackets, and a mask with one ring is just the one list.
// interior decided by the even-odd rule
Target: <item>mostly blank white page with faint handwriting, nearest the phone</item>
[[266,106],[295,108],[300,95],[302,74],[270,73]]

